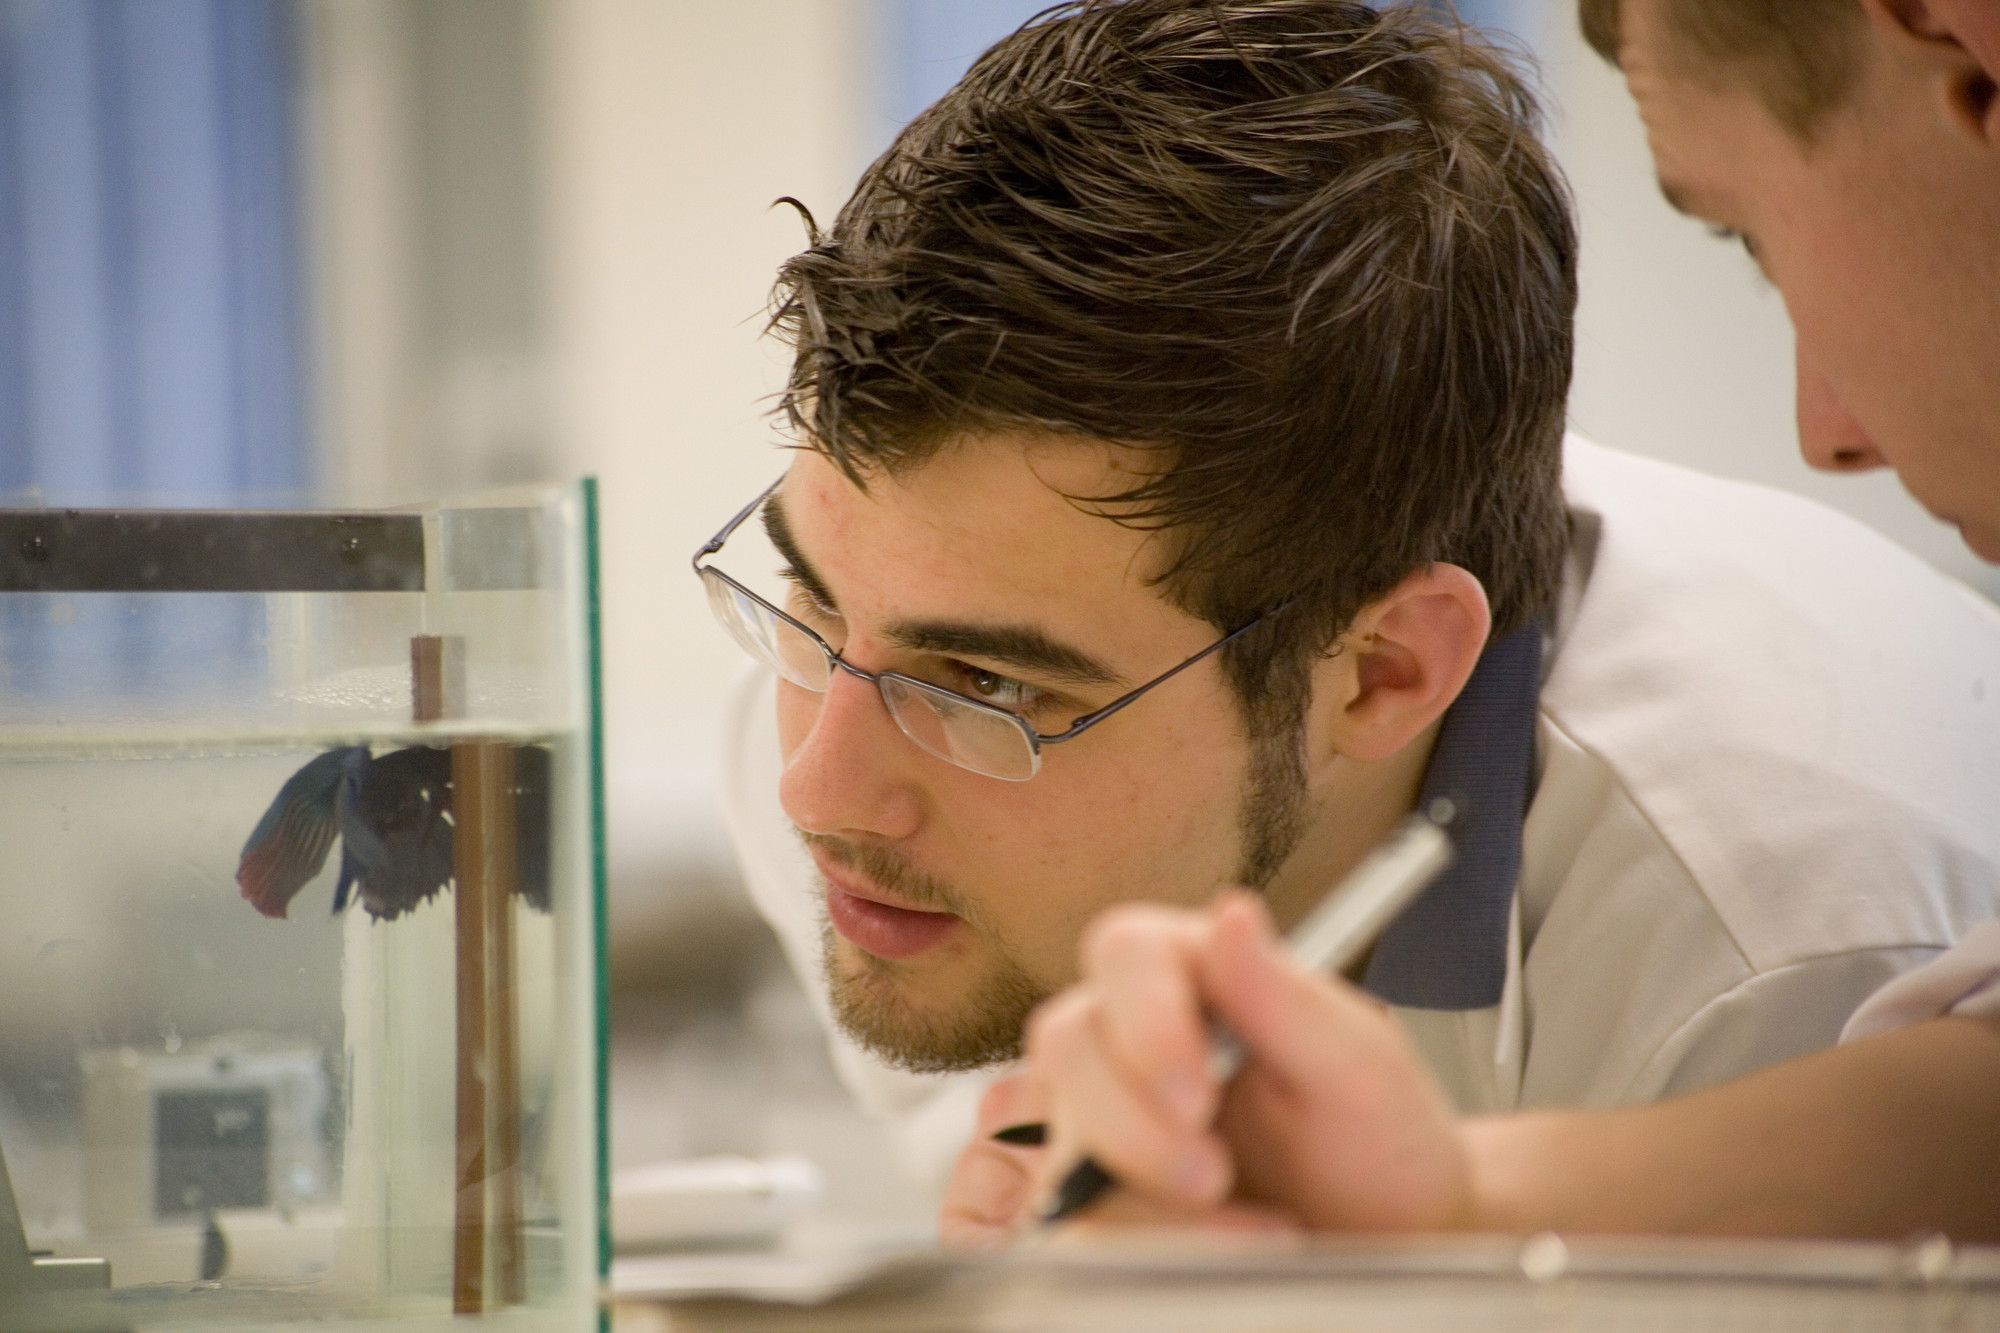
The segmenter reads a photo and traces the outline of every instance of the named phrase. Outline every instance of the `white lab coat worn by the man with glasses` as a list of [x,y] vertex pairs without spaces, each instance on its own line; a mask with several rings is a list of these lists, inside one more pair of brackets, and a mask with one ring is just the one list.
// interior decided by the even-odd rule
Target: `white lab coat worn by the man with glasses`
[[[1776,490],[1574,436],[1564,490],[1578,540],[1494,939],[1504,991],[1398,1011],[1466,1111],[1642,1103],[1832,1045],[2000,917],[2000,610]],[[754,681],[726,761],[744,881],[842,1079],[940,1181],[990,1075],[902,1073],[834,1029],[778,773]]]

